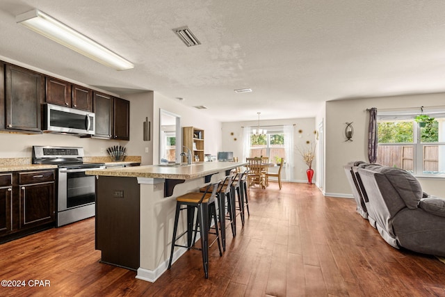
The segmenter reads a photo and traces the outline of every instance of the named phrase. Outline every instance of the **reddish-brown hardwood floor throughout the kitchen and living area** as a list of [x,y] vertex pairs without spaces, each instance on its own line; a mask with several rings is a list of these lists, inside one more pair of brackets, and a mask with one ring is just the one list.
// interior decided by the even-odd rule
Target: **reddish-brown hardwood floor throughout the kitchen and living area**
[[0,280],[26,284],[0,296],[445,296],[445,264],[392,248],[354,200],[314,185],[250,189],[250,217],[223,257],[211,248],[208,280],[195,250],[154,283],[101,264],[94,227],[90,218],[1,245]]

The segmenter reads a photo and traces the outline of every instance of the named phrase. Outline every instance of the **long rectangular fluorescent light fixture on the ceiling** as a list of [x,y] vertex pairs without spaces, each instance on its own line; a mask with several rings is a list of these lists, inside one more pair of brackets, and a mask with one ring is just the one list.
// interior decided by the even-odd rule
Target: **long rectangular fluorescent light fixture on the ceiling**
[[79,54],[83,54],[83,56],[87,56],[115,70],[128,70],[134,67],[131,62],[125,60],[118,54],[99,45],[99,43],[86,37],[86,35],[71,29],[57,19],[42,13],[40,10],[35,9],[28,13],[17,15],[15,21],[60,43],[60,45],[64,45],[73,51],[77,51]]

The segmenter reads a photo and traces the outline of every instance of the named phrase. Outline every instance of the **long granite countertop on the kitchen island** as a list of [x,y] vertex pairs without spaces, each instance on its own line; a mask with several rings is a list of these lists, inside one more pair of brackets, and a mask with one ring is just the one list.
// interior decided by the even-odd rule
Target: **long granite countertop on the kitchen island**
[[125,168],[108,168],[104,170],[89,170],[87,175],[102,175],[110,177],[149,177],[163,179],[195,179],[216,172],[245,166],[245,162],[198,162],[185,166],[145,165]]

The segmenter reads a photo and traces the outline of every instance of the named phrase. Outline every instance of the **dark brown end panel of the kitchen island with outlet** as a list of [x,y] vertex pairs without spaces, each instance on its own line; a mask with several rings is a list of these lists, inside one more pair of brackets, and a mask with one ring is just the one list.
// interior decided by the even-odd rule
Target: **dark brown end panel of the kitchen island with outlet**
[[136,177],[96,179],[96,250],[101,262],[139,268],[139,196]]

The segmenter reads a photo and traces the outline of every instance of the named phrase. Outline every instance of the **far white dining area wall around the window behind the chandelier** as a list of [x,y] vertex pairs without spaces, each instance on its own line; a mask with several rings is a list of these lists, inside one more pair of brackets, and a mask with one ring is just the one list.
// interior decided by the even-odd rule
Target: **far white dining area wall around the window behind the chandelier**
[[[294,148],[305,147],[306,141],[315,141],[315,118],[299,118],[287,120],[261,120],[261,126],[268,125],[294,125]],[[241,158],[243,156],[243,128],[257,126],[257,121],[246,122],[223,122],[223,152],[234,152],[234,156]],[[302,130],[302,133],[298,131]],[[233,135],[232,135],[233,134]],[[236,138],[236,140],[235,140]],[[239,160],[245,161],[245,160]],[[293,182],[307,182],[306,170],[307,166],[302,161],[302,157],[298,150],[294,149],[293,153]],[[316,168],[316,160],[312,164],[312,168]],[[276,168],[275,168],[276,169]],[[274,169],[271,168],[271,171]],[[316,170],[315,170],[316,171]],[[284,173],[284,170],[282,171]],[[284,175],[283,179],[287,179]],[[314,181],[316,172],[314,174]]]

